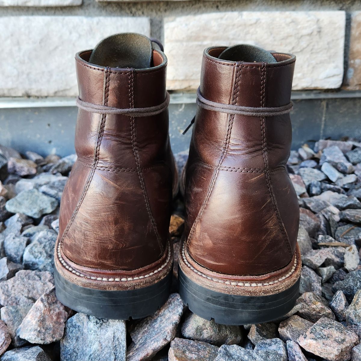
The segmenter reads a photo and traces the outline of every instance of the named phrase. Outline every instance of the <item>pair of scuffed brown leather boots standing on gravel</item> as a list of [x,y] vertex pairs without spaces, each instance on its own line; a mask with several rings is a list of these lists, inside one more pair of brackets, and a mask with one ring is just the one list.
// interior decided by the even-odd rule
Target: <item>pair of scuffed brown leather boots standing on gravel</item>
[[[146,36],[118,34],[75,59],[78,160],[61,200],[57,296],[97,317],[145,317],[172,277],[167,58]],[[299,206],[286,171],[294,65],[293,55],[251,45],[203,53],[180,177],[179,293],[217,323],[270,321],[298,296]]]

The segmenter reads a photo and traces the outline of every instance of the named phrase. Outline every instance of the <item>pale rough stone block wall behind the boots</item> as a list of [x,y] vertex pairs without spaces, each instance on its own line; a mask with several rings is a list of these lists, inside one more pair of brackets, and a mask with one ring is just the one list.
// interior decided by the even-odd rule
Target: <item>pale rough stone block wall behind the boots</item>
[[173,91],[235,43],[294,53],[294,90],[361,90],[361,0],[0,0],[0,96],[77,95],[74,54],[123,31],[162,40]]

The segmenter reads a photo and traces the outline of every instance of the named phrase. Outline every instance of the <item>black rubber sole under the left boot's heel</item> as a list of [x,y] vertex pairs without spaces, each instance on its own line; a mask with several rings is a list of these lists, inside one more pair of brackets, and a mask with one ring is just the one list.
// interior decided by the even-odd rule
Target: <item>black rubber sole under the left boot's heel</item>
[[55,269],[58,300],[69,308],[99,318],[143,318],[156,312],[169,297],[172,272],[151,286],[125,291],[103,291],[78,286]]

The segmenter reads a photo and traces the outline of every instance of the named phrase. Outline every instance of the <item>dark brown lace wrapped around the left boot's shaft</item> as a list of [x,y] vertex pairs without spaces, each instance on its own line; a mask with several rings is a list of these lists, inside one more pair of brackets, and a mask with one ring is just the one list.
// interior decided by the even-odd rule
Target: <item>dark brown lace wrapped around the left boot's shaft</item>
[[166,92],[165,101],[162,104],[147,108],[113,108],[112,106],[89,103],[77,97],[77,106],[80,109],[98,114],[122,114],[127,117],[151,117],[162,113],[169,105],[169,93]]

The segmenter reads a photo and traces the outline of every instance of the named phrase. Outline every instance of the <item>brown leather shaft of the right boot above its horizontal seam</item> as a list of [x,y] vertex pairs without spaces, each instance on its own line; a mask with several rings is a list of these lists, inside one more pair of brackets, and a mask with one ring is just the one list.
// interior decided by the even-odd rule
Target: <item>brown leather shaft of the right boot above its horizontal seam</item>
[[[216,59],[225,48],[208,48],[204,52],[200,93],[205,99],[247,107],[280,107],[291,101],[295,57],[273,53],[277,63],[230,62]],[[193,141],[203,142],[201,157],[216,161],[212,148],[222,147],[228,117],[226,113],[198,109]],[[275,121],[276,120],[276,121]],[[292,129],[289,113],[265,118],[269,166],[286,165],[290,153]],[[206,134],[203,138],[199,133]],[[208,147],[210,149],[208,149]],[[210,158],[211,157],[211,158]],[[230,141],[223,166],[264,168],[262,129],[259,118],[234,115]]]

